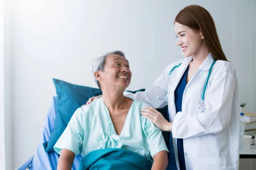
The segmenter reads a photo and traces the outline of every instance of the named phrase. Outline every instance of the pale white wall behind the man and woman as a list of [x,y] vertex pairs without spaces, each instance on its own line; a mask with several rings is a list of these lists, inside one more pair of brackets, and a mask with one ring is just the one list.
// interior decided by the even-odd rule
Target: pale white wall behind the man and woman
[[[128,89],[149,87],[182,57],[173,21],[190,4],[212,14],[224,53],[237,71],[241,101],[256,112],[254,0],[13,0],[13,168],[35,153],[55,95],[52,77],[96,87],[90,61],[119,49],[133,72]],[[247,82],[244,75],[250,76]]]

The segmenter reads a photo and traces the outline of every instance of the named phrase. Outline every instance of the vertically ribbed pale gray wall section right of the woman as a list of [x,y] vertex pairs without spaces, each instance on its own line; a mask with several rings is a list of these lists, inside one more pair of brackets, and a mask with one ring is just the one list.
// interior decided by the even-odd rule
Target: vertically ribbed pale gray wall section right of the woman
[[241,102],[256,113],[256,0],[239,0],[234,6],[233,62],[240,85]]

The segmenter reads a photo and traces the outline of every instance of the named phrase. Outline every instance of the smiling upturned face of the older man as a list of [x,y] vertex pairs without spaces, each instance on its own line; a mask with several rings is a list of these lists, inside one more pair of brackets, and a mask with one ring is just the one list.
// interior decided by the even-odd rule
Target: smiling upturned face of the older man
[[131,82],[129,62],[125,57],[118,54],[109,55],[105,58],[104,71],[100,72],[101,87],[114,87],[116,90],[125,90]]

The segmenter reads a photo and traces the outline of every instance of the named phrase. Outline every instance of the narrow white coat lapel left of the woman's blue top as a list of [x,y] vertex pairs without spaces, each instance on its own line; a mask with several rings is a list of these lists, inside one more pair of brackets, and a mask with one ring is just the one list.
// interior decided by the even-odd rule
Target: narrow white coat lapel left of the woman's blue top
[[186,68],[188,67],[191,60],[192,60],[192,57],[187,57],[187,58],[183,59],[183,61],[181,62],[180,67],[177,68],[177,74],[176,74],[176,77],[175,77],[175,82],[173,83],[173,87],[172,87],[173,91],[171,92],[172,94],[170,94],[170,97],[168,97],[168,98],[171,99],[171,100],[169,100],[169,102],[170,102],[169,104],[170,104],[170,106],[172,106],[172,109],[169,109],[169,113],[171,112],[171,115],[172,115],[171,120],[173,120],[175,115],[176,115],[175,101],[174,101],[174,91],[177,88],[177,85],[179,84],[180,79],[183,76],[183,74],[185,73]]

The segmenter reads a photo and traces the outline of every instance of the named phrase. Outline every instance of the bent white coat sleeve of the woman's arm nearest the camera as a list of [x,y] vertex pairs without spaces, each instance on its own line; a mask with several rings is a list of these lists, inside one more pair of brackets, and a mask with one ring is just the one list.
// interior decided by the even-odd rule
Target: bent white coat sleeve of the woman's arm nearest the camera
[[235,73],[222,71],[212,80],[204,113],[178,112],[172,126],[174,138],[220,133],[229,124],[235,91]]

